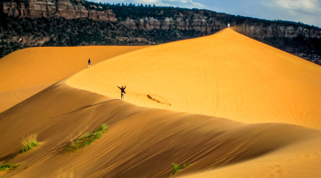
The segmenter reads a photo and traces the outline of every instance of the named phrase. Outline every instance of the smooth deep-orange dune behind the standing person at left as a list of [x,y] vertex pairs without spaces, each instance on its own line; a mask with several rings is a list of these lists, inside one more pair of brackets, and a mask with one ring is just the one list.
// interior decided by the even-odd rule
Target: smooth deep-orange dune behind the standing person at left
[[0,59],[0,93],[59,81],[108,58],[146,46],[32,47]]

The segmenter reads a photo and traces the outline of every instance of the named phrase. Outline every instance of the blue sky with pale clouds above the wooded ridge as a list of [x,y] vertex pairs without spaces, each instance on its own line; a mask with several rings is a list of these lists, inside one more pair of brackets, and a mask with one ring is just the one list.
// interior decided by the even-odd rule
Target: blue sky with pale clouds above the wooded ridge
[[88,0],[101,3],[155,4],[208,9],[266,20],[302,22],[321,27],[321,0]]

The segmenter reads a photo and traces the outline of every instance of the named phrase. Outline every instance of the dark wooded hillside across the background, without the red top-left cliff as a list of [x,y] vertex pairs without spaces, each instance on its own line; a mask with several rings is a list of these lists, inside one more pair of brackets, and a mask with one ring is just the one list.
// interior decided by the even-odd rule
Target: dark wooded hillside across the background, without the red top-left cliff
[[[28,2],[28,0],[5,0]],[[154,5],[70,1],[86,9],[112,10],[117,22],[48,15],[28,18],[0,14],[0,57],[36,46],[155,45],[213,34],[228,22],[250,38],[319,63],[321,29],[291,21],[269,21],[209,10]],[[99,8],[98,8],[99,7]]]

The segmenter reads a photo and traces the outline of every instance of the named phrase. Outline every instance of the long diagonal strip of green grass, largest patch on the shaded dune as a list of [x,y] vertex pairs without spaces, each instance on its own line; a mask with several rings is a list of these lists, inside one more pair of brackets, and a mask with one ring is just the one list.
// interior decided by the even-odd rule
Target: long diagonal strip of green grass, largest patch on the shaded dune
[[90,145],[95,140],[99,139],[104,132],[108,131],[108,125],[102,124],[97,130],[91,133],[86,133],[81,138],[71,141],[67,151],[76,151],[80,148]]

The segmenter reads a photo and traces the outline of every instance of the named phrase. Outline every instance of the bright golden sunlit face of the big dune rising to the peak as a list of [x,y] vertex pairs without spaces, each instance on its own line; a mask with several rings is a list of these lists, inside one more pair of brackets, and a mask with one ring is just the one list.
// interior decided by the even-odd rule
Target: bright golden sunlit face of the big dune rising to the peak
[[225,29],[119,55],[67,84],[113,98],[126,85],[139,106],[321,129],[320,76],[319,65]]

